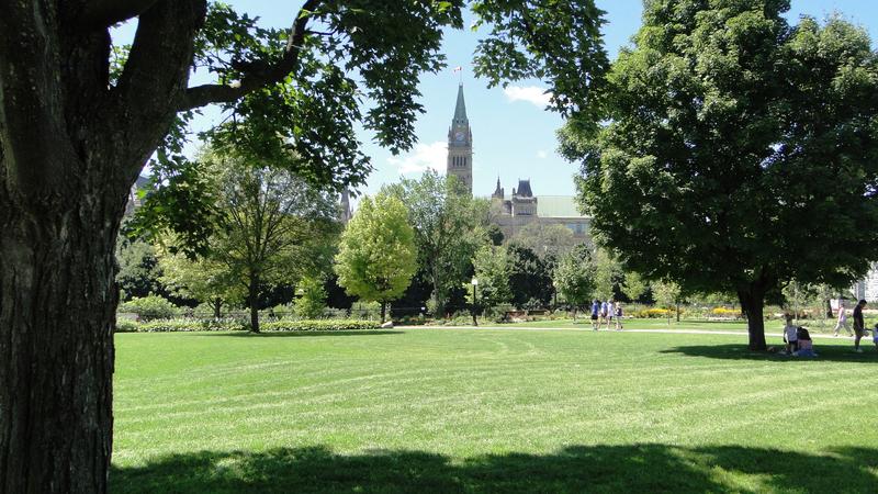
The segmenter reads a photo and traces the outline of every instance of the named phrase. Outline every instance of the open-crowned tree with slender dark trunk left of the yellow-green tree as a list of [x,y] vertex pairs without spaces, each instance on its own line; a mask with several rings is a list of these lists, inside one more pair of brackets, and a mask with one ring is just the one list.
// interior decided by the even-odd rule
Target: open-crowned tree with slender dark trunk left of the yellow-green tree
[[205,159],[218,182],[218,225],[209,256],[246,290],[250,330],[259,333],[259,296],[267,285],[294,283],[328,265],[337,205],[331,194],[288,170],[228,151]]

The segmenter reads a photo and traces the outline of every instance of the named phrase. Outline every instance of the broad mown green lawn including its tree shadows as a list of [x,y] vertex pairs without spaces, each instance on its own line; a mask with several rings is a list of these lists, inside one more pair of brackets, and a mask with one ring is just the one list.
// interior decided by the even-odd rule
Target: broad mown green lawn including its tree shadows
[[[777,344],[778,341],[773,341]],[[875,492],[878,352],[590,330],[116,336],[113,492]]]

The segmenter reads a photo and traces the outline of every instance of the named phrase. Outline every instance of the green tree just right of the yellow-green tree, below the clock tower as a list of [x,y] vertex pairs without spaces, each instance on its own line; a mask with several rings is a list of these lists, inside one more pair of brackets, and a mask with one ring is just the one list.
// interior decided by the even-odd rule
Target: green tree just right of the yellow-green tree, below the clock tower
[[418,262],[432,284],[436,313],[444,314],[449,292],[469,274],[471,259],[485,243],[488,203],[472,199],[457,177],[428,170],[419,180],[404,179],[389,186],[408,210],[415,228]]

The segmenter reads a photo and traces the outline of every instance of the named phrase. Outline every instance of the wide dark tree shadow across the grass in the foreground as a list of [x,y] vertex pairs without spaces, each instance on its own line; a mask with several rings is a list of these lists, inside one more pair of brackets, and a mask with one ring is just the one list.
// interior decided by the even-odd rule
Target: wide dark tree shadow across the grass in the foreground
[[[871,471],[870,471],[871,469]],[[452,462],[425,451],[337,454],[325,447],[171,454],[113,467],[125,493],[875,492],[878,449],[826,456],[763,448],[572,446]]]

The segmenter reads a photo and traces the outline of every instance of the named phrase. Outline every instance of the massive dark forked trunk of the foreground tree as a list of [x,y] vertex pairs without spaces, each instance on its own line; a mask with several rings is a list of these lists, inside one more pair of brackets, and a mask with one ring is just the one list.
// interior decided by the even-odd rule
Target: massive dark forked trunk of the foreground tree
[[[116,3],[0,0],[0,494],[106,492],[116,233],[206,9]],[[112,83],[108,27],[137,14]]]

